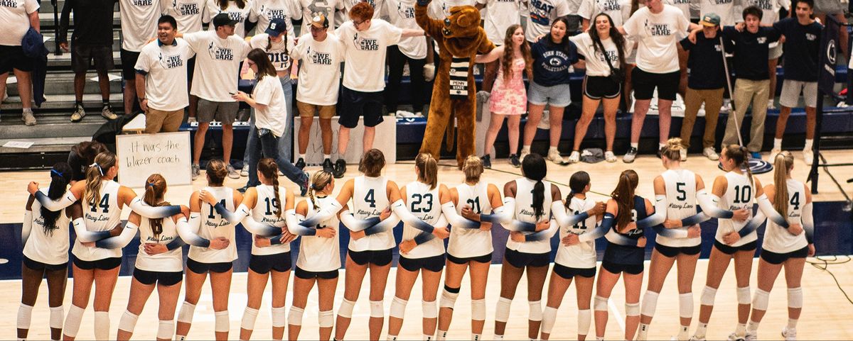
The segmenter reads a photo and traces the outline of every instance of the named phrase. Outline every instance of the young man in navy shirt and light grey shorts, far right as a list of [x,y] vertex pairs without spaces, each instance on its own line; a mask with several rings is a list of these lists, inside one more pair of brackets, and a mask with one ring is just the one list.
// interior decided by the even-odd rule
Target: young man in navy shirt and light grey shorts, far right
[[815,158],[811,146],[815,139],[818,55],[821,50],[821,31],[823,31],[823,26],[812,19],[814,4],[814,0],[796,0],[794,2],[796,18],[786,18],[773,25],[785,37],[787,54],[782,64],[782,69],[785,70],[785,82],[782,82],[782,94],[779,98],[781,108],[779,119],[776,121],[776,135],[773,139],[770,159],[775,160],[776,154],[782,150],[782,135],[785,134],[791,108],[799,105],[799,95],[802,93],[805,106],[803,159],[809,166]]

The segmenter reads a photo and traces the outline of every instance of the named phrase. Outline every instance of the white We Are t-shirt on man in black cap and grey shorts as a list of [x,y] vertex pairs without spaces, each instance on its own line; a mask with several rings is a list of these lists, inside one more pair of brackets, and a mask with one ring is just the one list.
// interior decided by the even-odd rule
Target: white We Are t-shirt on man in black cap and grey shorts
[[249,43],[237,35],[220,38],[216,31],[187,33],[183,40],[196,56],[189,94],[214,102],[234,102],[231,94],[237,93],[240,62],[249,54]]

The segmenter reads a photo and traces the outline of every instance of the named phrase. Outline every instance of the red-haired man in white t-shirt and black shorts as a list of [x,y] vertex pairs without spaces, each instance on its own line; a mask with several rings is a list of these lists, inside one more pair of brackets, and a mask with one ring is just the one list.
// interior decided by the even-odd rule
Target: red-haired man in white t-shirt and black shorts
[[335,178],[342,178],[346,172],[344,155],[350,142],[350,130],[357,127],[358,117],[364,117],[364,151],[373,148],[376,126],[382,122],[386,49],[399,43],[400,39],[424,35],[421,29],[401,29],[386,20],[374,19],[374,8],[370,3],[357,3],[350,9],[349,16],[350,21],[337,31],[346,53]]

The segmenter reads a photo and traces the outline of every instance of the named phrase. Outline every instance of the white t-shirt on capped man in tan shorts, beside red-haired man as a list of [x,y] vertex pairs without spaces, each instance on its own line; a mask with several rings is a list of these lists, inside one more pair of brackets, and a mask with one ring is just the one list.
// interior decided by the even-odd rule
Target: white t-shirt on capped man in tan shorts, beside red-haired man
[[296,100],[311,105],[338,103],[340,63],[344,61],[344,53],[344,43],[334,34],[329,34],[322,42],[314,40],[310,33],[299,37],[291,54],[294,60],[302,60]]

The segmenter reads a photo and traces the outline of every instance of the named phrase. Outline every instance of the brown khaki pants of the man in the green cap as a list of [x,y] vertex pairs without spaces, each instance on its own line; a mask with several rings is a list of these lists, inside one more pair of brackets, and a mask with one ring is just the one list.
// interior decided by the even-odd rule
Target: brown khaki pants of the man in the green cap
[[723,88],[710,90],[697,90],[688,88],[684,94],[684,121],[682,121],[682,144],[685,148],[690,147],[690,135],[693,134],[693,123],[699,107],[705,103],[705,134],[702,134],[702,148],[713,147],[717,134],[717,117],[720,116],[722,107]]

